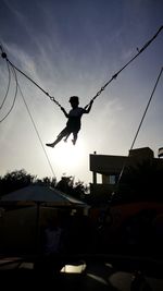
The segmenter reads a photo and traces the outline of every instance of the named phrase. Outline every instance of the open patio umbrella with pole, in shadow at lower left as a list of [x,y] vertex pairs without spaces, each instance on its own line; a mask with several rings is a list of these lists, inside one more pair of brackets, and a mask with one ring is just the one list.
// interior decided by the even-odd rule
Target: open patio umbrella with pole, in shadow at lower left
[[40,209],[41,208],[82,208],[88,209],[88,205],[65,193],[43,185],[29,185],[10,194],[2,195],[0,207],[5,209],[17,209],[36,206],[36,250],[39,244]]

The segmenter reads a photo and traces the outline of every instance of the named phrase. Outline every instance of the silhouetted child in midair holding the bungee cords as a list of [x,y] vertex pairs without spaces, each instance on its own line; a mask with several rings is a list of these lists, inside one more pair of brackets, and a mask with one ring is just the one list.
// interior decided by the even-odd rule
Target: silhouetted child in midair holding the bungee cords
[[77,96],[72,96],[70,98],[70,102],[71,102],[72,109],[68,113],[65,111],[65,109],[63,107],[61,107],[61,110],[63,111],[65,117],[68,119],[66,122],[66,126],[64,128],[64,130],[62,132],[60,132],[57,140],[51,144],[46,144],[47,146],[54,147],[63,137],[65,137],[64,142],[66,142],[66,140],[68,138],[71,133],[73,134],[72,142],[74,145],[76,144],[77,134],[78,134],[78,132],[80,130],[80,125],[82,125],[82,123],[80,123],[82,116],[84,113],[89,113],[93,100],[90,101],[87,109],[86,109],[86,107],[85,108],[78,107],[79,100],[78,100]]

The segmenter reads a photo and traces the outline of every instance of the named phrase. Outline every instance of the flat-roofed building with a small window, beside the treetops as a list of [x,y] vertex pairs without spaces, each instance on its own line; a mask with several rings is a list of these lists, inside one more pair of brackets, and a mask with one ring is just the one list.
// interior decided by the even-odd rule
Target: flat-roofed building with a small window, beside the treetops
[[[116,190],[117,181],[126,166],[134,166],[147,159],[154,159],[163,167],[163,159],[154,158],[153,150],[149,147],[131,149],[128,156],[93,155],[89,156],[92,183],[90,195],[96,202],[106,202],[109,196]],[[99,182],[98,175],[101,175]]]

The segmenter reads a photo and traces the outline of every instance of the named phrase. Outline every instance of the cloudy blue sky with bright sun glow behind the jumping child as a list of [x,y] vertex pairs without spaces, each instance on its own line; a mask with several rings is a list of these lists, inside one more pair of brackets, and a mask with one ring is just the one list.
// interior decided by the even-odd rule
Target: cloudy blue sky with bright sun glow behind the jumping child
[[[0,44],[8,59],[66,111],[73,95],[85,107],[162,25],[162,0],[0,0]],[[163,29],[83,116],[76,145],[70,137],[54,148],[46,143],[55,140],[66,118],[18,72],[8,114],[16,88],[11,70],[0,107],[0,175],[25,169],[40,179],[72,175],[91,183],[90,154],[128,155],[162,66]],[[8,82],[0,58],[0,105]],[[162,92],[163,74],[134,145],[150,147],[155,157],[163,146]]]

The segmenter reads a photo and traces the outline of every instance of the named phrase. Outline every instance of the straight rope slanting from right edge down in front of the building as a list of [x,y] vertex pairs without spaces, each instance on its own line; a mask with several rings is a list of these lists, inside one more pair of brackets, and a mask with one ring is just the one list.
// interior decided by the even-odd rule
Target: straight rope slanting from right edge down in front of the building
[[[147,104],[147,107],[146,107],[146,109],[145,109],[145,112],[143,112],[143,114],[142,114],[141,121],[140,121],[140,123],[139,123],[138,130],[137,130],[137,132],[136,132],[136,135],[135,135],[135,137],[134,137],[134,141],[133,141],[133,143],[131,143],[131,146],[130,146],[130,149],[129,149],[129,150],[133,149],[133,147],[134,147],[134,145],[135,145],[135,142],[136,142],[137,137],[138,137],[138,133],[139,133],[139,131],[140,131],[140,128],[141,128],[142,122],[143,122],[143,120],[145,120],[147,110],[148,110],[148,108],[149,108],[149,106],[150,106],[150,102],[151,102],[152,97],[153,97],[153,95],[154,95],[154,92],[155,92],[155,89],[156,89],[156,86],[158,86],[158,83],[159,83],[160,77],[161,77],[161,75],[162,75],[162,72],[163,72],[163,66],[161,68],[161,71],[160,71],[159,76],[158,76],[158,78],[156,78],[155,85],[154,85],[154,87],[153,87],[153,90],[152,90],[151,96],[150,96],[150,98],[149,98],[149,101],[148,101],[148,104]],[[121,171],[120,177],[118,177],[117,184],[120,183],[120,181],[121,181],[121,179],[122,179],[122,175],[123,175],[123,172],[124,172],[124,170],[125,170],[125,167],[126,167],[126,165],[124,165],[123,168],[122,168],[122,171]]]

